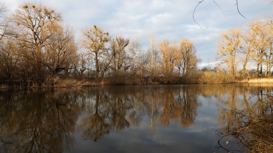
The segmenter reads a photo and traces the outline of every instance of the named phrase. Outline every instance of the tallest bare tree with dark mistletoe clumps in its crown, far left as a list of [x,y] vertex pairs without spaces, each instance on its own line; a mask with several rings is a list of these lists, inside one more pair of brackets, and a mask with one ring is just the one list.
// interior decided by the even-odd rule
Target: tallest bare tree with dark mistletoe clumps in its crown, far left
[[32,79],[44,81],[45,68],[42,64],[45,42],[51,36],[48,25],[61,21],[61,13],[43,4],[24,3],[12,14],[12,22],[17,27],[16,38],[24,48],[25,61],[30,66]]

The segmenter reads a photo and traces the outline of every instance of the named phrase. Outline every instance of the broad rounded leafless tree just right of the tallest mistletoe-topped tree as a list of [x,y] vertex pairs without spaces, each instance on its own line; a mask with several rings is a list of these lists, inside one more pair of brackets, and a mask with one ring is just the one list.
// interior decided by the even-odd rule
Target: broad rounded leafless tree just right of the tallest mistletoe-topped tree
[[51,76],[59,76],[75,68],[77,46],[74,41],[75,32],[69,26],[58,22],[48,25],[50,37],[45,43],[42,63],[48,68]]

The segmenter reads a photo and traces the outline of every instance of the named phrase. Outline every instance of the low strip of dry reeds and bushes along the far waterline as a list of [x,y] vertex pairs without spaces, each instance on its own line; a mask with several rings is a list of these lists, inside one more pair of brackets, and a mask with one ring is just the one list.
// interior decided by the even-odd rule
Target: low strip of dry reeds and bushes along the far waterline
[[111,75],[100,78],[89,79],[61,79],[54,78],[43,83],[32,81],[22,82],[3,82],[0,89],[5,88],[79,88],[83,86],[100,85],[141,85],[141,84],[224,84],[224,83],[273,83],[273,78],[249,78],[238,79],[229,73],[199,71],[185,76],[139,76],[134,73],[112,73]]

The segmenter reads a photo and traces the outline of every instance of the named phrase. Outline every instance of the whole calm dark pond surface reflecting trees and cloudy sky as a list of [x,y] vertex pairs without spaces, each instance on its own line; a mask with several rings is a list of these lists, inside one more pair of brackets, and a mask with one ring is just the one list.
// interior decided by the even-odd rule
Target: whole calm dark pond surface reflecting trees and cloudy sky
[[[0,90],[0,152],[224,152],[218,129],[272,84]],[[252,97],[255,101],[258,97]]]

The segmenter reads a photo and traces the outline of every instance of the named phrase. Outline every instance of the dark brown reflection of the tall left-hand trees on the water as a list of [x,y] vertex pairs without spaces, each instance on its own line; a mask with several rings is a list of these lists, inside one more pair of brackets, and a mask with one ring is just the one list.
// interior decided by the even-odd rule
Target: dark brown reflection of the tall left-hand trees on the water
[[61,152],[73,145],[79,116],[71,90],[1,91],[0,138],[3,152]]

